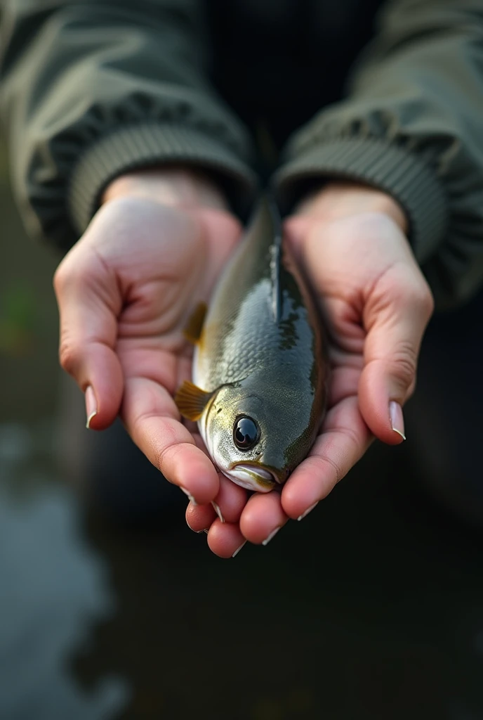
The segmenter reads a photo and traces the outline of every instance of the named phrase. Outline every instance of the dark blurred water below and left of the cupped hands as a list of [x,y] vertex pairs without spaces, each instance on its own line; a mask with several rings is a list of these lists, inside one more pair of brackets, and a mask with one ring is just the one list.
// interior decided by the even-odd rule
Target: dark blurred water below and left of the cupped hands
[[84,508],[55,462],[56,258],[3,182],[0,719],[483,718],[482,537],[398,449],[230,561],[181,500],[137,527]]

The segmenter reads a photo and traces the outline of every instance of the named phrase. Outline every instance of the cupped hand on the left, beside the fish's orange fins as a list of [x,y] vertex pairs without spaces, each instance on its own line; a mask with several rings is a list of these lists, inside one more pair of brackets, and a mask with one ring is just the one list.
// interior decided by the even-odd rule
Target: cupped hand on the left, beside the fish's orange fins
[[167,480],[210,503],[218,474],[172,396],[191,374],[186,320],[241,228],[221,193],[188,171],[123,176],[103,203],[55,274],[61,364],[86,393],[89,427],[119,413]]

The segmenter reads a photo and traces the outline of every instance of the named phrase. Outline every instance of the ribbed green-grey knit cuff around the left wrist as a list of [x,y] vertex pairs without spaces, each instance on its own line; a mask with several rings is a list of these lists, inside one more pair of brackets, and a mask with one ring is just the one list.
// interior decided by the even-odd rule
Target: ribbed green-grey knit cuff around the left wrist
[[78,232],[86,230],[111,180],[160,163],[184,163],[220,176],[231,207],[240,215],[247,212],[257,189],[249,166],[199,130],[157,122],[121,127],[93,143],[73,170],[68,207]]

